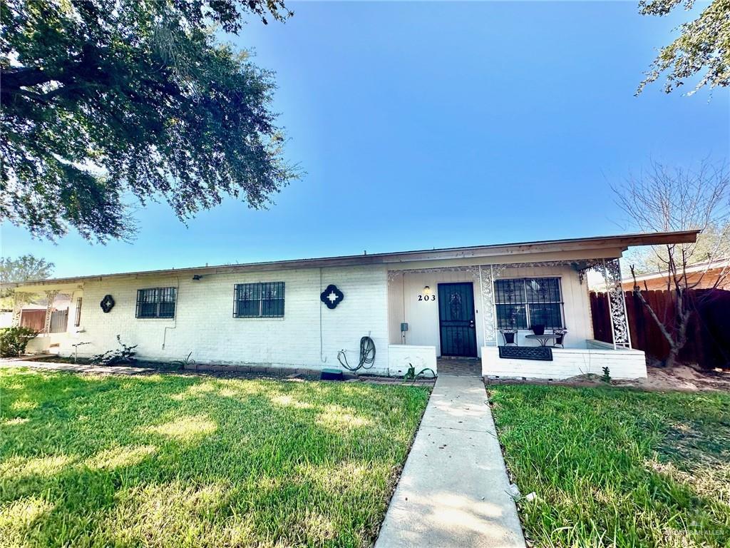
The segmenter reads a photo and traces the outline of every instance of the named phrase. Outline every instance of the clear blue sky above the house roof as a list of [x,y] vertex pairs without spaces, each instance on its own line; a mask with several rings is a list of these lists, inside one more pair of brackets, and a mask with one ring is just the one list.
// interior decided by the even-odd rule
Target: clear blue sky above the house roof
[[[287,157],[307,175],[267,211],[228,200],[188,227],[164,204],[133,244],[33,240],[2,254],[55,275],[469,246],[625,232],[610,183],[650,159],[730,150],[730,93],[634,91],[688,15],[637,2],[291,3],[239,47],[277,73]],[[685,90],[688,91],[688,90]]]

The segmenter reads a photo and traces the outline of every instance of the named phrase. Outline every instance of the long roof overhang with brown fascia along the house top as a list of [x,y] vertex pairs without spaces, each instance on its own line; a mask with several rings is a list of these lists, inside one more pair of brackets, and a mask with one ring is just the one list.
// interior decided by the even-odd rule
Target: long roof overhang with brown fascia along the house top
[[253,262],[244,265],[218,265],[212,267],[189,267],[165,270],[142,270],[127,273],[85,275],[72,278],[4,283],[0,287],[23,289],[24,292],[40,292],[50,289],[71,290],[80,288],[85,281],[102,281],[114,278],[139,278],[165,275],[208,275],[231,272],[256,272],[268,270],[291,270],[298,268],[348,267],[361,265],[388,265],[395,270],[413,267],[415,264],[434,264],[453,261],[464,264],[498,264],[499,262],[534,262],[550,260],[561,254],[569,259],[582,260],[621,256],[623,251],[634,246],[658,246],[672,243],[694,243],[699,230],[681,232],[653,232],[648,234],[626,234],[615,236],[594,236],[564,240],[541,240],[536,242],[504,243],[490,246],[441,248],[419,251],[401,251],[372,255],[348,255],[323,257],[320,259],[293,259],[288,261]]

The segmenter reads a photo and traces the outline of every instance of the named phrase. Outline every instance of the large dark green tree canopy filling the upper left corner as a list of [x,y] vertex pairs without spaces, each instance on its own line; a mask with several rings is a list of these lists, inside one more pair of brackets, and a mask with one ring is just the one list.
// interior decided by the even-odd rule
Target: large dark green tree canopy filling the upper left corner
[[0,0],[0,218],[55,238],[134,234],[130,200],[185,220],[265,207],[296,178],[274,80],[215,38],[282,0]]

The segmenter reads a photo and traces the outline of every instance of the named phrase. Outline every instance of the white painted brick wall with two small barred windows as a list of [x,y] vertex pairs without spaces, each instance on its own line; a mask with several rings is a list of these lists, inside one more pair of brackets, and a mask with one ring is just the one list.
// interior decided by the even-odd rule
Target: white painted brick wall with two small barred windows
[[[259,281],[285,282],[284,317],[234,318],[234,284]],[[385,267],[323,268],[321,286],[329,283],[345,294],[334,310],[320,302],[318,268],[212,274],[199,281],[189,274],[86,281],[79,337],[91,344],[80,346],[79,355],[117,348],[120,334],[124,343],[139,345],[137,355],[145,359],[182,359],[192,351],[200,363],[339,368],[337,351],[346,349],[350,364],[356,364],[360,338],[370,335],[377,351],[372,371],[387,370]],[[135,318],[137,289],[165,286],[177,287],[175,318]],[[99,306],[105,294],[115,300],[110,313]],[[64,354],[72,353],[70,344],[64,346]]]

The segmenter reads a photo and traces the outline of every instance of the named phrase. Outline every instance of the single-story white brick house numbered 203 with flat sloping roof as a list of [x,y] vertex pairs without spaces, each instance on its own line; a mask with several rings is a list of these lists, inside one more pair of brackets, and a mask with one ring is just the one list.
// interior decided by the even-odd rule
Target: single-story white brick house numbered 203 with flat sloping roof
[[[365,373],[437,369],[437,357],[480,357],[484,375],[646,376],[631,349],[618,258],[629,246],[694,242],[697,231],[153,270],[10,284],[17,298],[71,297],[69,328],[31,341],[34,351],[89,356],[123,342],[140,358],[339,368],[358,362],[361,337],[376,357]],[[614,343],[593,340],[585,273],[607,276]],[[16,311],[19,307],[16,307]],[[539,348],[534,324],[566,329],[564,349]],[[500,330],[517,330],[504,350]],[[500,353],[504,357],[500,357]],[[527,354],[526,354],[527,353]],[[514,355],[513,355],[514,354]],[[528,355],[529,354],[529,355]],[[524,359],[531,357],[532,359]]]

